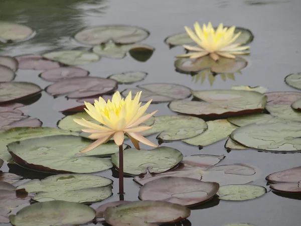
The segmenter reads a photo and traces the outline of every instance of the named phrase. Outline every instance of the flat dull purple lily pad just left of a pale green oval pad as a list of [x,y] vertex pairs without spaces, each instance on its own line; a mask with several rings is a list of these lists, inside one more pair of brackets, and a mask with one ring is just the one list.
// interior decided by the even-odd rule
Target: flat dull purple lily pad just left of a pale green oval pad
[[50,70],[60,67],[58,62],[37,55],[21,55],[17,56],[16,59],[19,62],[19,68],[23,70]]

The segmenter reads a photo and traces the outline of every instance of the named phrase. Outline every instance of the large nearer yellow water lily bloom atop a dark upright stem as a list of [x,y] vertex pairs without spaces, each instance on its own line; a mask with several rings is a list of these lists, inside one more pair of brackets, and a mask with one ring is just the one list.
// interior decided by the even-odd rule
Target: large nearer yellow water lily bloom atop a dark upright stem
[[117,91],[112,97],[112,101],[105,100],[99,97],[99,100],[95,100],[94,105],[85,102],[87,109],[86,112],[96,121],[100,122],[104,126],[100,126],[85,119],[74,119],[74,122],[88,129],[82,129],[83,132],[91,133],[89,138],[98,139],[80,152],[88,152],[98,147],[99,145],[106,143],[112,137],[116,145],[121,146],[124,140],[124,133],[129,137],[136,149],[139,148],[141,142],[145,145],[158,147],[158,145],[148,141],[139,132],[148,130],[152,127],[137,127],[150,117],[156,114],[156,111],[142,116],[149,106],[152,100],[149,100],[145,105],[140,106],[139,102],[141,91],[136,94],[134,99],[131,97],[131,92],[126,98],[121,98],[120,93]]

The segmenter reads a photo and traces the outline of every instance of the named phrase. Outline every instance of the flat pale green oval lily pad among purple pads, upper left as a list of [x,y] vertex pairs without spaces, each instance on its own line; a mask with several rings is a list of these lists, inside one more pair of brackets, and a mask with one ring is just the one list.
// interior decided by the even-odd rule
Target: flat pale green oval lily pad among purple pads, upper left
[[100,57],[95,53],[78,50],[55,51],[46,53],[43,55],[43,57],[72,66],[85,65],[100,60]]

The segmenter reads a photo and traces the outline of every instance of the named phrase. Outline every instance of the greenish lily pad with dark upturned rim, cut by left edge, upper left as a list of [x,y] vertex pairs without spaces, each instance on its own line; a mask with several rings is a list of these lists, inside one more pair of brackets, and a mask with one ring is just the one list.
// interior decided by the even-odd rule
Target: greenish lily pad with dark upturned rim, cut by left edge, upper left
[[31,82],[0,83],[0,103],[7,103],[38,94],[42,89]]

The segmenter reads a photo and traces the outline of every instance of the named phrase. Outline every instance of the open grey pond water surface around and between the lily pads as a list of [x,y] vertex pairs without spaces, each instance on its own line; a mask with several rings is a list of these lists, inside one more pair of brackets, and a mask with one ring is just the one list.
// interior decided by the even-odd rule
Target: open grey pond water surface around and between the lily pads
[[[121,60],[101,58],[98,62],[82,66],[90,72],[90,76],[99,77],[126,71],[148,73],[141,82],[119,85],[119,91],[134,88],[138,84],[154,82],[177,83],[195,90],[230,89],[233,85],[260,85],[267,87],[268,91],[297,91],[284,83],[284,77],[301,71],[300,11],[300,0],[1,0],[1,20],[25,24],[33,28],[37,35],[23,43],[0,44],[0,54],[17,56],[84,47],[72,39],[72,36],[80,30],[97,25],[125,24],[139,26],[150,32],[150,36],[142,41],[156,48],[148,61],[138,62],[126,56]],[[195,83],[190,75],[175,71],[175,55],[182,54],[184,49],[183,47],[169,49],[164,39],[184,32],[184,26],[192,27],[196,21],[200,24],[211,21],[213,26],[222,22],[224,25],[249,29],[254,34],[254,40],[249,44],[251,54],[244,57],[248,61],[248,66],[241,70],[242,74],[235,74],[234,81],[223,81],[217,75],[213,85],[210,86],[207,78],[203,84],[200,81]],[[42,88],[52,84],[39,78],[40,73],[41,71],[18,70],[15,81],[30,81]],[[64,115],[52,106],[60,98],[64,97],[54,99],[43,91],[37,102],[21,110],[25,115],[40,119],[44,127],[56,127],[57,122]],[[156,109],[159,109],[157,116],[175,115],[167,108],[167,103],[152,104],[149,112]],[[148,138],[158,142],[156,136]],[[129,144],[128,141],[125,143]],[[184,155],[224,154],[226,158],[220,163],[222,165],[246,163],[257,166],[263,173],[261,178],[252,184],[262,186],[266,184],[265,176],[299,166],[301,162],[301,153],[273,154],[256,150],[233,150],[227,153],[224,143],[225,140],[202,150],[182,142],[164,143],[163,146],[176,148]],[[23,170],[18,169],[20,172]],[[4,166],[1,170],[7,172],[9,168]],[[14,173],[18,174],[18,170]],[[111,171],[107,170],[97,175],[112,179],[111,174]],[[124,183],[125,200],[137,200],[139,186],[132,181],[132,178],[126,178]],[[118,179],[114,178],[114,195],[92,206],[97,207],[105,202],[118,200],[117,185]],[[265,187],[268,189],[267,186]],[[297,225],[301,219],[300,207],[300,200],[280,197],[268,192],[260,198],[248,201],[221,200],[213,207],[193,210],[188,219],[193,226],[222,226],[238,222],[257,226]]]

